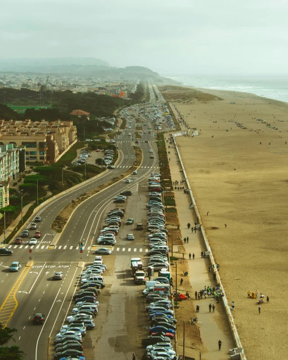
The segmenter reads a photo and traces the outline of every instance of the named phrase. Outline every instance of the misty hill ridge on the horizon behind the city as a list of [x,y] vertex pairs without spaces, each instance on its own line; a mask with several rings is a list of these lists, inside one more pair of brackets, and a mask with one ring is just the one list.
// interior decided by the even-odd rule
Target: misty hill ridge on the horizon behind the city
[[0,72],[26,73],[27,75],[82,76],[126,80],[153,79],[156,84],[180,85],[180,83],[161,77],[144,66],[112,67],[107,61],[94,57],[55,57],[0,59]]

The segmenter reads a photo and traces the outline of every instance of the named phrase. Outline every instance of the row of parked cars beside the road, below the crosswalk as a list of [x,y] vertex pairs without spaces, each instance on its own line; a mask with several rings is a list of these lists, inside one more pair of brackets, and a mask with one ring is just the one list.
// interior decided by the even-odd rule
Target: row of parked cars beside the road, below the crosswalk
[[55,360],[85,360],[83,337],[87,330],[95,327],[94,318],[99,307],[97,297],[105,286],[102,274],[106,268],[102,257],[96,256],[94,263],[82,272],[81,287],[74,295],[76,304],[66,318],[67,324],[62,326],[54,339]]

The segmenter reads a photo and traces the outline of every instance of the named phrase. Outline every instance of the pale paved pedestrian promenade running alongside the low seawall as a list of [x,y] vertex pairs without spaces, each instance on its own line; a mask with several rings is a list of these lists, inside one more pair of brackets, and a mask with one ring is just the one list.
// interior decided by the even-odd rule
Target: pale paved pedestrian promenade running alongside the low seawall
[[[169,138],[169,134],[165,135],[165,139]],[[168,148],[169,142],[166,143]],[[169,155],[171,161],[169,162],[171,178],[173,181],[184,180],[183,173],[180,172],[180,165],[177,165],[178,156],[175,150],[168,149],[171,154]],[[180,185],[181,186],[181,185]],[[184,244],[185,248],[185,258],[188,260],[189,266],[189,280],[193,289],[193,294],[195,291],[199,292],[204,286],[211,285],[215,286],[215,281],[213,280],[212,273],[208,271],[209,268],[209,259],[201,257],[201,251],[205,251],[204,241],[201,237],[199,230],[196,230],[196,233],[191,231],[191,228],[188,229],[187,224],[190,223],[191,227],[194,227],[194,223],[197,222],[195,213],[192,209],[189,209],[189,204],[191,203],[191,198],[188,194],[185,194],[183,191],[174,191],[175,201],[177,206],[178,218],[180,222],[180,230],[182,238],[189,237],[188,244]],[[195,254],[195,259],[189,260],[189,252]],[[191,298],[195,299],[193,297]],[[199,313],[197,313],[198,326],[200,330],[200,337],[203,342],[203,350],[201,351],[201,357],[207,360],[226,360],[230,358],[228,353],[229,349],[235,347],[234,339],[230,331],[228,319],[225,313],[225,309],[222,303],[217,304],[216,300],[212,298],[207,298],[202,300],[193,300],[194,307],[196,305],[200,307]],[[209,312],[209,304],[215,305],[215,313]],[[218,341],[222,341],[222,349],[219,351]],[[179,346],[177,353],[181,353],[182,346]]]

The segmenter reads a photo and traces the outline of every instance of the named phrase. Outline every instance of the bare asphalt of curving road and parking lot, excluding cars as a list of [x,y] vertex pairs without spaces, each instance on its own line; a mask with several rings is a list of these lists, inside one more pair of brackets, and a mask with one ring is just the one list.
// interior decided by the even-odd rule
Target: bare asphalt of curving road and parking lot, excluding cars
[[[151,99],[155,101],[152,88],[150,90]],[[124,114],[124,111],[125,109],[122,110],[122,114]],[[129,110],[129,114],[131,113],[138,116],[138,107]],[[126,117],[127,115],[124,114],[123,116]],[[140,118],[141,121],[143,121],[141,122],[143,130],[152,127],[149,119],[144,116],[140,116]],[[152,172],[159,171],[157,146],[155,143],[156,133],[154,131],[151,133],[147,131],[147,133],[142,134],[141,139],[138,139],[139,143],[137,146],[142,149],[143,161],[138,169],[137,175],[129,176],[132,182],[129,184],[123,181],[117,182],[88,198],[76,209],[69,223],[61,233],[57,244],[54,247],[49,246],[52,240],[51,234],[55,233],[51,230],[50,225],[58,212],[67,203],[125,172],[133,163],[134,151],[132,145],[135,145],[135,138],[132,139],[128,133],[135,131],[136,121],[131,116],[129,116],[129,118],[126,117],[126,119],[127,124],[129,124],[131,128],[117,135],[116,141],[121,158],[116,168],[107,171],[107,173],[84,184],[80,188],[72,189],[68,193],[51,201],[40,209],[39,212],[36,212],[35,217],[38,215],[42,217],[42,222],[38,223],[37,229],[42,232],[42,238],[39,239],[37,246],[29,246],[29,239],[27,239],[23,245],[14,245],[11,243],[5,247],[12,249],[14,254],[8,257],[0,257],[0,284],[2,289],[0,293],[0,304],[4,304],[4,307],[0,307],[0,322],[6,323],[9,321],[9,327],[16,327],[18,329],[18,334],[15,337],[16,344],[25,352],[25,359],[27,360],[34,358],[42,360],[47,358],[49,339],[53,341],[53,336],[55,336],[61,328],[65,317],[69,315],[68,310],[72,297],[76,291],[79,275],[83,270],[82,262],[93,262],[95,242],[100,229],[103,227],[105,213],[114,207],[121,207],[125,208],[124,223],[129,217],[134,218],[135,223],[142,222],[146,224],[147,222],[147,209],[145,207],[148,202],[147,177]],[[144,126],[144,124],[147,124],[147,127]],[[146,140],[148,140],[148,142],[146,142]],[[152,149],[153,153],[149,152],[150,149]],[[154,158],[150,158],[152,154]],[[133,193],[132,196],[128,196],[124,204],[113,204],[113,197],[124,190],[131,190]],[[30,223],[31,221],[27,224],[27,228]],[[146,232],[134,232],[134,228],[135,224],[123,225],[119,236],[117,236],[117,243],[113,247],[112,254],[105,256],[107,271],[104,272],[103,276],[108,285],[106,285],[105,291],[103,290],[99,296],[101,306],[99,308],[99,315],[97,316],[96,331],[91,330],[89,335],[86,335],[86,345],[84,345],[85,349],[86,346],[92,349],[94,347],[92,343],[96,343],[94,350],[91,351],[97,353],[98,356],[102,354],[103,356],[109,357],[107,353],[111,355],[112,353],[114,354],[114,345],[112,346],[109,342],[110,347],[108,349],[107,346],[103,348],[103,344],[107,342],[108,332],[113,333],[119,331],[120,326],[119,324],[117,324],[117,326],[115,324],[118,330],[116,328],[114,329],[111,324],[111,326],[107,325],[107,329],[102,329],[101,319],[102,321],[108,322],[108,324],[112,321],[108,313],[105,312],[105,309],[111,307],[112,303],[116,305],[121,299],[123,300],[123,295],[128,294],[127,296],[131,300],[135,294],[135,287],[127,287],[125,284],[123,286],[123,284],[119,283],[117,280],[119,278],[117,272],[122,272],[123,274],[120,275],[120,278],[124,279],[128,276],[126,269],[129,267],[130,257],[143,256],[148,251],[148,247],[146,246]],[[33,231],[30,233],[33,235]],[[135,240],[133,242],[127,243],[125,236],[128,233],[134,233]],[[78,246],[80,241],[84,243],[83,253],[80,253]],[[29,249],[32,250],[31,254],[28,252]],[[32,257],[33,261],[31,268],[25,267],[29,261],[29,256]],[[12,261],[19,261],[21,263],[22,268],[19,272],[10,272],[9,266]],[[63,279],[53,280],[52,276],[54,271],[62,271],[64,274]],[[129,278],[129,281],[130,280]],[[111,283],[109,284],[109,282]],[[115,297],[109,293],[111,289],[114,288],[117,293]],[[109,294],[106,295],[106,298],[104,296],[107,292]],[[103,296],[102,293],[104,293]],[[107,300],[112,303],[107,303]],[[127,306],[133,308],[131,303],[126,304],[125,301],[122,301],[122,303],[120,312],[122,314],[124,311],[124,319],[123,315],[121,315],[121,322],[126,321],[125,311],[127,311]],[[103,307],[103,309],[101,307]],[[44,325],[32,324],[33,314],[35,312],[46,315]],[[99,331],[103,331],[103,336],[99,336]],[[124,355],[122,356],[120,352],[118,353],[119,358],[126,358]],[[125,351],[123,350],[122,352],[124,353]],[[88,356],[87,358],[93,357]]]

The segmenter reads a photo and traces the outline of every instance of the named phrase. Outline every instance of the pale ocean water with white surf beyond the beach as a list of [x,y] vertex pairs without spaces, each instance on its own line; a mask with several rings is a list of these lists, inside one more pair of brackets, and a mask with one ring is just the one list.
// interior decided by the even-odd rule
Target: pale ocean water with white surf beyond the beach
[[283,77],[171,77],[183,86],[215,90],[241,91],[288,102],[288,76]]

